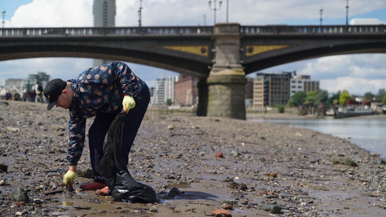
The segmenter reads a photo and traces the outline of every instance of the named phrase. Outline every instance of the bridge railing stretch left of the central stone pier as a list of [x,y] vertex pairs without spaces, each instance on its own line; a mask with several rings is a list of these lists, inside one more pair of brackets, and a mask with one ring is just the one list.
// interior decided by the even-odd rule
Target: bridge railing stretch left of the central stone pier
[[0,37],[205,36],[212,33],[211,26],[0,29]]

